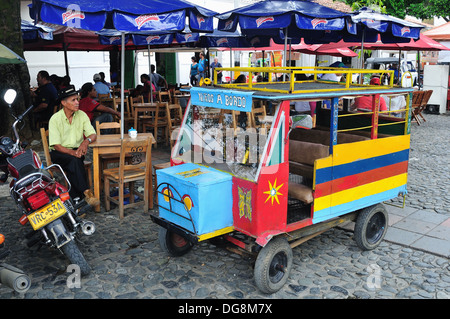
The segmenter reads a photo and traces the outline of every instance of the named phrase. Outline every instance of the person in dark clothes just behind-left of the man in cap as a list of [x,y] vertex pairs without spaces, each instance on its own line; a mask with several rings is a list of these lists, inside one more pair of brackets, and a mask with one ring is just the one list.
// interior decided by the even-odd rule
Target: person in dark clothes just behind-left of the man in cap
[[50,75],[47,71],[39,71],[36,80],[39,87],[36,91],[31,92],[35,123],[50,120],[58,100],[58,91],[50,81]]

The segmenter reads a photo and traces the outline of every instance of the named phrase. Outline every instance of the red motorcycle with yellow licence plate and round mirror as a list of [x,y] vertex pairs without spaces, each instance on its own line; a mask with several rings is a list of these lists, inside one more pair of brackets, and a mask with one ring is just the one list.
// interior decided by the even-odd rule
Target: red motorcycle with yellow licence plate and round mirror
[[[16,98],[12,89],[6,91],[5,102],[11,109]],[[26,235],[27,246],[45,244],[61,251],[71,262],[80,267],[81,275],[90,273],[90,266],[77,246],[80,233],[90,236],[95,232],[95,224],[80,216],[89,209],[84,200],[72,199],[69,195],[70,182],[58,164],[44,167],[39,155],[25,150],[26,144],[20,142],[17,125],[21,123],[33,106],[15,118],[12,131],[15,142],[7,136],[0,138],[1,182],[6,182],[10,174],[10,195],[23,215],[19,222],[30,223],[33,230]],[[61,183],[54,177],[62,176]]]

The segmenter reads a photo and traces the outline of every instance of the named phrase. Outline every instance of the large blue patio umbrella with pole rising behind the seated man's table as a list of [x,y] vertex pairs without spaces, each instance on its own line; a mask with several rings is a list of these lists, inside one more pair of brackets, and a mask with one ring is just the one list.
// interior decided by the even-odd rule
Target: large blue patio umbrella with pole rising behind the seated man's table
[[[186,20],[193,31],[212,32],[217,12],[183,0],[33,0],[30,16],[35,21],[80,29],[121,31],[121,112],[125,64],[125,33],[183,31]],[[123,121],[121,137],[123,138]]]

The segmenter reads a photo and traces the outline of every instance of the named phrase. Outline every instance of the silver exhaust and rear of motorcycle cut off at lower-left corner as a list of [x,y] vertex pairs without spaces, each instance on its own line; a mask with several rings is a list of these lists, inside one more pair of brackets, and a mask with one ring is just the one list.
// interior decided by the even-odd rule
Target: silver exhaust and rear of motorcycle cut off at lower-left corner
[[[0,260],[6,258],[10,251],[5,248],[5,236],[0,234]],[[0,284],[5,285],[18,293],[25,293],[31,286],[30,277],[22,270],[0,263]]]

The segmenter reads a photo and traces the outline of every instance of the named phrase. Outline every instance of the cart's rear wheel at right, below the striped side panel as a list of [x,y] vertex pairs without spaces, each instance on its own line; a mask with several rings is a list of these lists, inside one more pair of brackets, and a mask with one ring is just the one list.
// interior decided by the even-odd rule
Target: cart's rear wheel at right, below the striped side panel
[[354,238],[359,248],[372,250],[381,243],[388,228],[388,213],[382,204],[364,208],[356,219]]

